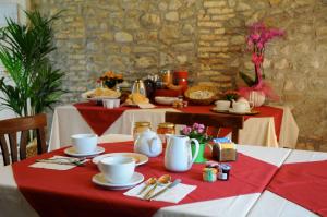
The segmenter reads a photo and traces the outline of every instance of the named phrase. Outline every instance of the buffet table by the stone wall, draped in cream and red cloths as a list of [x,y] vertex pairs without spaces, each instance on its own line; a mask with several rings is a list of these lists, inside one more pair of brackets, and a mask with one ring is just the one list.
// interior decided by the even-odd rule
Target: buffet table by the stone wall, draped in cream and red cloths
[[[156,130],[159,123],[165,122],[166,111],[211,112],[210,108],[189,106],[178,110],[171,107],[105,109],[87,104],[59,106],[53,113],[49,148],[57,149],[69,145],[70,136],[76,133],[132,134],[136,121],[149,121],[153,130]],[[261,110],[258,116],[245,116],[240,144],[294,148],[299,128],[290,108],[259,107],[257,110]],[[83,112],[88,114],[87,119]]]

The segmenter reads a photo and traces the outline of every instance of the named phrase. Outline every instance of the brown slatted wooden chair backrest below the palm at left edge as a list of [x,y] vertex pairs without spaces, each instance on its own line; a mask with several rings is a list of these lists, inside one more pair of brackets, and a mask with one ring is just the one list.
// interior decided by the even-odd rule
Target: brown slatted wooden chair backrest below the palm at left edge
[[[14,118],[0,121],[0,147],[3,156],[4,166],[11,161],[19,160],[17,149],[20,144],[20,159],[26,158],[26,146],[28,143],[28,133],[36,130],[37,154],[46,152],[46,133],[47,117],[45,113]],[[17,133],[21,132],[21,141],[17,143]],[[8,140],[5,137],[8,136]],[[9,145],[7,144],[9,142]],[[10,149],[10,152],[9,152]]]

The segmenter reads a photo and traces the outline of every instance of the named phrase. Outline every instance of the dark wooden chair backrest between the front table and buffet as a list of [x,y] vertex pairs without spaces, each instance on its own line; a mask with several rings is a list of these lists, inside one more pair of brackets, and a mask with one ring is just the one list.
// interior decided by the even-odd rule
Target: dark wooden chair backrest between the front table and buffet
[[166,122],[174,124],[192,125],[202,123],[206,126],[213,126],[217,133],[221,128],[228,128],[232,131],[232,141],[239,143],[239,130],[243,129],[243,116],[216,114],[216,113],[184,113],[166,112]]

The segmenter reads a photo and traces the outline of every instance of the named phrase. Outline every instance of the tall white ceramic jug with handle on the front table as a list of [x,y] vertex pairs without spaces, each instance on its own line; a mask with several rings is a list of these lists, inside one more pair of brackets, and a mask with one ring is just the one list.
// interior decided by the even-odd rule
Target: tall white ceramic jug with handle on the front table
[[[185,135],[167,135],[168,143],[165,153],[166,169],[174,172],[187,171],[191,169],[197,157],[199,144],[197,140]],[[191,142],[195,144],[195,153],[192,157]]]

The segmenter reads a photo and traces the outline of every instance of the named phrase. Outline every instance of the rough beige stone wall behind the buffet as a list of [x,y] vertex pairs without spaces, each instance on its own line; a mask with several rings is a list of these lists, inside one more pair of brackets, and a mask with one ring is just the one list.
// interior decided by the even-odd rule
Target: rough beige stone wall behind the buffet
[[45,14],[60,10],[52,56],[66,72],[63,101],[75,101],[101,72],[133,80],[160,69],[186,69],[195,82],[221,89],[253,75],[246,26],[286,29],[267,46],[265,75],[291,105],[304,144],[327,145],[326,0],[32,0]]

